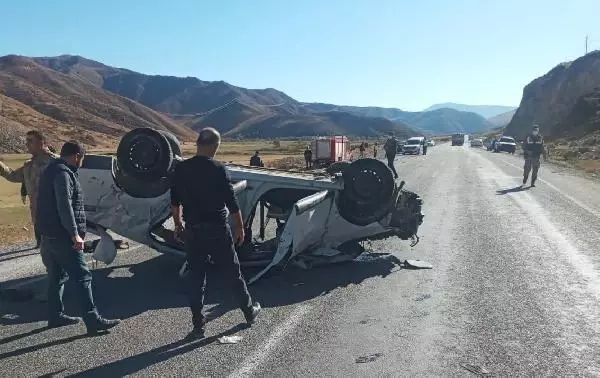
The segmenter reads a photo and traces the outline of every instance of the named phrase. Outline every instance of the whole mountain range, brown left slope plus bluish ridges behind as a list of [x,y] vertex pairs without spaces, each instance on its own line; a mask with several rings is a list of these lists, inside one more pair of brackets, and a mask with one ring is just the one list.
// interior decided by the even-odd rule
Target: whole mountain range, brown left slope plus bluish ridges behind
[[406,112],[303,103],[273,88],[145,75],[72,55],[1,57],[0,95],[4,134],[38,127],[57,141],[77,137],[92,146],[110,145],[127,130],[144,126],[183,139],[209,125],[237,138],[372,137],[390,131],[406,138],[493,126],[478,114],[450,108]]

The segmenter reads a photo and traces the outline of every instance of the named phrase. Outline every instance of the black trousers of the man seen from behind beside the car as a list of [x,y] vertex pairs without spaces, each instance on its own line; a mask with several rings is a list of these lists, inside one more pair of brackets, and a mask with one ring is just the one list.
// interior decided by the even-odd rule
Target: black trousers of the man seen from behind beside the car
[[203,328],[206,323],[202,308],[209,256],[217,264],[221,275],[231,282],[239,308],[245,315],[250,314],[252,298],[240,270],[228,223],[201,223],[186,227],[185,252],[189,265],[188,294],[194,328]]

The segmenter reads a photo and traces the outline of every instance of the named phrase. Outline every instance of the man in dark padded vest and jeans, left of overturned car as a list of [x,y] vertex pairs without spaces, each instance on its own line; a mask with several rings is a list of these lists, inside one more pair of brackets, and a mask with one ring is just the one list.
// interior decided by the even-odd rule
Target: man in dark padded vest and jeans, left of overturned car
[[38,192],[36,227],[42,236],[41,254],[48,271],[48,327],[79,323],[67,316],[63,307],[65,282],[72,278],[88,334],[106,331],[120,320],[98,314],[92,295],[92,274],[83,256],[86,218],[78,168],[85,150],[76,141],[66,142],[60,159],[51,162],[42,173]]

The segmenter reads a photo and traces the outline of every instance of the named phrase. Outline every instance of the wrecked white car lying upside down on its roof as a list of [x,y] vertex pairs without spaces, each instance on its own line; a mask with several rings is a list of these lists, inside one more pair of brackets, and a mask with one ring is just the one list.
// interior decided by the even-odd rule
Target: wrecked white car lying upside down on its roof
[[[169,197],[169,173],[182,159],[173,135],[149,128],[127,133],[116,158],[86,156],[79,177],[88,229],[101,237],[97,260],[110,264],[116,256],[107,230],[185,256],[173,237]],[[378,160],[338,162],[321,172],[232,164],[228,169],[246,227],[240,263],[263,268],[249,282],[289,262],[354,259],[363,252],[363,240],[396,236],[418,242],[422,200],[402,189],[404,182],[397,185]]]

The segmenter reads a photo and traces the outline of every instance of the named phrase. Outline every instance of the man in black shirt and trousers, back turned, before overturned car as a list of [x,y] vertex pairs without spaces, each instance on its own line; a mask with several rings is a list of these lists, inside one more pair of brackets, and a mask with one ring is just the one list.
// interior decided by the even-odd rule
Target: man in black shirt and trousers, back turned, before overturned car
[[[221,135],[217,130],[202,129],[196,141],[196,156],[178,164],[172,177],[175,236],[185,241],[189,266],[187,279],[190,280],[188,290],[194,327],[188,335],[191,339],[204,337],[206,317],[202,308],[209,256],[230,280],[246,322],[253,323],[260,312],[260,304],[253,303],[248,293],[235,251],[234,242],[238,245],[244,242],[244,221],[229,173],[223,164],[214,160],[220,144]],[[235,221],[233,235],[227,222],[227,209]]]

